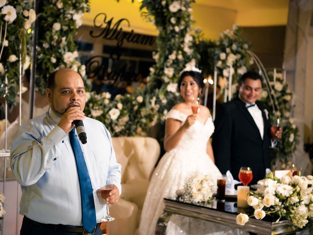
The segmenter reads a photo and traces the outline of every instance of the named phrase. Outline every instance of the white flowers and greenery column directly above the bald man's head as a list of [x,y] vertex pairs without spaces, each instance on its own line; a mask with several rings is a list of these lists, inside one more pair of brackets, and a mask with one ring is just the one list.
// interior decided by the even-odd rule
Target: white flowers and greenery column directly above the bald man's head
[[61,68],[80,73],[85,82],[85,65],[77,60],[73,35],[83,24],[82,16],[89,12],[89,0],[45,0],[39,17],[36,86],[44,94],[48,75]]

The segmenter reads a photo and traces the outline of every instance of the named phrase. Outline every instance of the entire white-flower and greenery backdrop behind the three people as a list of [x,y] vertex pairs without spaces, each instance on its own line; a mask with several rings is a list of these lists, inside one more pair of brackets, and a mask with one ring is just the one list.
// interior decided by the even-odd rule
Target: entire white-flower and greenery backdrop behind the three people
[[[46,0],[40,1],[41,14],[38,17],[40,32],[37,47],[36,87],[45,91],[48,74],[58,68],[72,68],[85,78],[85,66],[77,61],[77,47],[73,35],[82,24],[82,15],[89,11],[89,0]],[[192,25],[191,3],[195,0],[143,0],[142,15],[156,25],[159,31],[157,51],[153,57],[156,64],[150,68],[148,85],[137,90],[134,95],[88,94],[85,113],[106,124],[112,136],[145,136],[150,127],[163,122],[168,110],[179,99],[177,80],[179,72],[188,66],[198,66],[205,75],[213,74],[217,66],[223,88],[232,66],[233,84],[238,75],[244,73],[252,61],[247,51],[251,47],[240,37],[241,28],[234,25],[221,33],[216,41],[205,41],[200,37],[200,29]],[[29,66],[29,28],[36,20],[32,0],[0,0],[0,95],[5,94],[10,103],[15,102],[19,78],[19,54],[21,45],[22,63]],[[57,20],[56,20],[57,19]],[[6,29],[6,35],[4,38]],[[16,36],[18,32],[19,37]],[[200,56],[201,55],[201,56]],[[8,83],[4,83],[7,76]],[[85,79],[86,81],[86,79]],[[298,129],[289,118],[292,93],[288,85],[272,84],[278,99],[280,115],[283,119],[283,139],[276,156],[286,163],[295,151]],[[276,83],[277,83],[276,82]],[[225,84],[224,84],[225,85]],[[277,87],[282,89],[277,89]],[[235,89],[234,89],[235,90]],[[223,89],[222,89],[223,91]],[[265,94],[265,93],[264,93]],[[269,104],[268,96],[263,95]],[[270,105],[268,111],[272,112]]]

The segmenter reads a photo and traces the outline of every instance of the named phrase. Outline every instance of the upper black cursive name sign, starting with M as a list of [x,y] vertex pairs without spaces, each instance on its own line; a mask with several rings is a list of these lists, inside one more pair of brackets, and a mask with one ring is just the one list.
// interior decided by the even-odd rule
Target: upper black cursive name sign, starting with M
[[[102,23],[97,24],[97,22],[99,21]],[[90,30],[89,35],[93,38],[102,37],[103,39],[116,40],[117,47],[122,47],[125,40],[130,43],[142,45],[149,44],[150,46],[153,45],[155,42],[155,37],[135,33],[133,29],[130,32],[123,31],[123,28],[120,26],[122,22],[126,22],[128,27],[131,26],[129,20],[127,20],[126,18],[118,20],[115,24],[112,24],[112,22],[113,17],[110,20],[107,20],[107,15],[105,13],[99,13],[93,19],[93,25],[96,28],[101,28],[102,31],[97,33],[93,30]],[[102,27],[103,25],[105,27]]]

